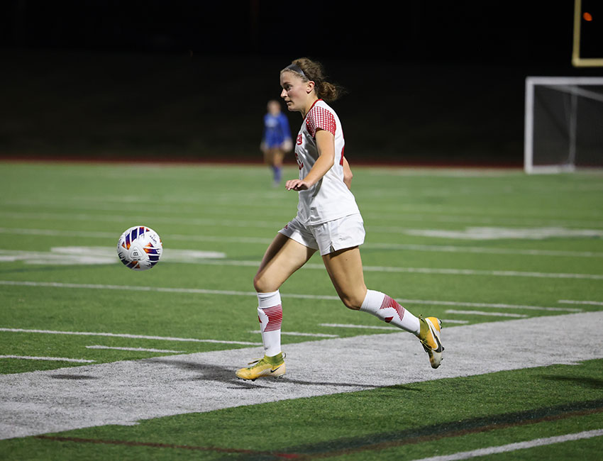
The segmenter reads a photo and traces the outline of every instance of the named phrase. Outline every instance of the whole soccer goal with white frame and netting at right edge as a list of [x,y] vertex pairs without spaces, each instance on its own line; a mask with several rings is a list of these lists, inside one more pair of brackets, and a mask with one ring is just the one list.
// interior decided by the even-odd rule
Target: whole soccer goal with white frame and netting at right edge
[[603,77],[527,77],[526,173],[603,167]]

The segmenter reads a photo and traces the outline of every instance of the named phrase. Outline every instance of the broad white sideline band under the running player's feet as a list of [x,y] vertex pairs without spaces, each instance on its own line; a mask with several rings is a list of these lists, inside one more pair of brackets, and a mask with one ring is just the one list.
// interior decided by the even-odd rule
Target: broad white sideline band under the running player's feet
[[[283,379],[253,383],[240,381],[235,371],[262,354],[261,346],[0,374],[0,439],[433,379],[576,365],[603,358],[602,321],[603,311],[597,311],[448,328],[442,340],[449,347],[438,370],[428,365],[414,335],[388,331],[289,344]],[[583,337],[590,338],[590,347],[584,347]],[[530,338],[538,348],[526,348],[518,338]],[[393,356],[380,353],[392,348],[397,351]],[[89,378],[85,386],[82,378]]]

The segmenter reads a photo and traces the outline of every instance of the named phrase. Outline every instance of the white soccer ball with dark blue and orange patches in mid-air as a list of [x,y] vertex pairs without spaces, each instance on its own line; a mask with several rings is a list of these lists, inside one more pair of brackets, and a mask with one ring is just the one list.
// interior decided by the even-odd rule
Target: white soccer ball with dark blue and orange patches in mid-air
[[163,245],[155,230],[134,226],[126,230],[117,242],[117,255],[126,267],[147,270],[159,262]]

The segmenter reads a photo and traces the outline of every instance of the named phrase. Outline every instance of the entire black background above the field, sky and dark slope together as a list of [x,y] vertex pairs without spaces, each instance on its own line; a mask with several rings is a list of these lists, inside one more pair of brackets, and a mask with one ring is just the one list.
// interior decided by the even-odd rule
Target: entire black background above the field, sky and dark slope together
[[526,76],[602,74],[571,65],[573,14],[570,0],[4,1],[0,155],[260,160],[278,73],[308,56],[348,90],[333,103],[348,157],[519,165]]

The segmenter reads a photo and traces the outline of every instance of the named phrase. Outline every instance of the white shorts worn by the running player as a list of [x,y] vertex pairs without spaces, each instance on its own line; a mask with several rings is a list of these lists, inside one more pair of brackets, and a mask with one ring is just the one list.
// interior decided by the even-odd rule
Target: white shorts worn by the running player
[[296,216],[279,233],[308,248],[319,250],[321,256],[362,245],[365,241],[360,213],[309,226],[302,224]]

